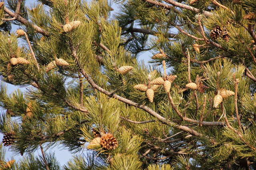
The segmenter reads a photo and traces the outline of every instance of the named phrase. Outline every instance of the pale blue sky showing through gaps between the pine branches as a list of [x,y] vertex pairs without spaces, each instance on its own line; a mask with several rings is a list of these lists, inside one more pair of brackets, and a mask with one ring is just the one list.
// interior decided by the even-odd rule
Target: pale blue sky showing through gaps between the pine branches
[[[36,1],[34,0],[26,0],[26,6],[30,6],[31,3],[34,3]],[[112,5],[112,8],[114,8],[114,12],[117,10],[117,6],[115,4]],[[17,26],[14,25],[12,27],[12,31],[15,32],[17,29]],[[149,52],[145,52],[145,53],[142,53],[140,54],[140,56],[138,57],[138,60],[144,60],[145,63],[147,63],[150,59],[150,57],[152,56],[151,53]],[[6,84],[6,83],[5,83]],[[13,86],[12,84],[6,84],[7,88],[8,88],[8,93],[11,93],[13,92],[14,90],[17,89],[16,86]],[[22,91],[25,91],[26,88],[20,88]],[[5,110],[1,110],[2,113],[5,113]],[[0,113],[1,113],[0,112]],[[0,139],[2,139],[3,135],[0,134]],[[1,140],[2,141],[2,140]],[[72,156],[74,154],[71,154],[70,152],[68,152],[68,150],[62,150],[63,148],[60,148],[61,146],[57,145],[55,146],[54,148],[50,148],[48,150],[46,150],[46,152],[54,152],[55,153],[55,156],[57,158],[57,160],[60,162],[61,166],[66,164],[66,162],[68,162],[68,160],[70,160],[72,158]],[[11,159],[15,159],[15,160],[19,160],[20,158],[22,158],[22,156],[20,156],[20,154],[16,155],[14,154],[13,152],[11,152],[10,150],[8,150],[8,147],[5,147],[6,148],[6,160],[11,160]],[[84,153],[86,154],[86,150],[84,150]],[[36,152],[34,152],[35,155],[41,155],[41,152],[40,150],[37,150]],[[81,154],[80,153],[77,153],[77,154]]]

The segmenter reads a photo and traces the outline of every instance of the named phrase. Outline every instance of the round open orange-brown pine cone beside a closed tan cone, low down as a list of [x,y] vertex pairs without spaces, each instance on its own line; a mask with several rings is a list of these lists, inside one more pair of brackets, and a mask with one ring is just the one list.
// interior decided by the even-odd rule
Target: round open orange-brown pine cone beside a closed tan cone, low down
[[100,145],[102,145],[102,147],[107,150],[116,149],[116,147],[118,146],[118,141],[115,137],[113,137],[112,134],[107,133],[101,137]]

